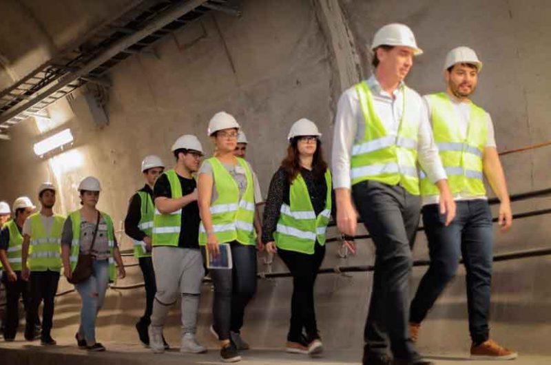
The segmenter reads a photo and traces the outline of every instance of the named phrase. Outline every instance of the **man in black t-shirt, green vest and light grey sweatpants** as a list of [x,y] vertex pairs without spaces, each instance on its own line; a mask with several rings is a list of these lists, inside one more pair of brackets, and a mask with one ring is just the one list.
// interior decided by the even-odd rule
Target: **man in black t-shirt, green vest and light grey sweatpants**
[[181,296],[180,352],[204,353],[195,338],[200,286],[205,275],[199,250],[199,207],[193,174],[203,155],[196,136],[180,136],[171,148],[176,166],[156,180],[153,195],[153,267],[157,293],[149,325],[149,347],[163,353],[163,326],[171,306]]

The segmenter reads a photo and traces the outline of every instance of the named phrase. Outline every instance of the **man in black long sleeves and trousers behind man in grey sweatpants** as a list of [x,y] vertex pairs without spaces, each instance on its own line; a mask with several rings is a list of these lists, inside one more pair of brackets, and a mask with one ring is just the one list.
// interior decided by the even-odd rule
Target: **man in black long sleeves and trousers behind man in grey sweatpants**
[[142,174],[145,180],[143,188],[136,191],[130,199],[128,213],[125,218],[125,233],[134,240],[134,258],[138,259],[145,284],[145,312],[136,323],[136,330],[144,346],[149,346],[147,328],[151,323],[153,300],[157,287],[152,261],[153,216],[153,186],[155,180],[163,174],[165,164],[160,157],[146,156],[142,161]]

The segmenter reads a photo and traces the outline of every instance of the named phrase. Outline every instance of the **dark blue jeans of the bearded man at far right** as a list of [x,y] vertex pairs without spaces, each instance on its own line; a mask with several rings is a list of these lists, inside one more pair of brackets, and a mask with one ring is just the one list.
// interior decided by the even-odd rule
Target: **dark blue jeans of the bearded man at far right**
[[438,205],[423,207],[430,267],[411,302],[410,321],[421,323],[446,284],[452,280],[463,255],[467,271],[467,303],[472,342],[488,340],[490,282],[492,280],[492,213],[486,200],[457,202],[457,215],[448,227]]

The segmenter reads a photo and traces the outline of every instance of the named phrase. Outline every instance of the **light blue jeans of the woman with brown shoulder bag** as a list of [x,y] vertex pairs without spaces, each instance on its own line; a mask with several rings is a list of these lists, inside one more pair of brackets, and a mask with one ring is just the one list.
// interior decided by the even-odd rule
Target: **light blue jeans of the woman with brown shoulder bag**
[[88,345],[96,343],[96,317],[103,305],[109,285],[109,261],[94,260],[93,262],[90,278],[75,285],[82,299],[79,338],[84,338]]

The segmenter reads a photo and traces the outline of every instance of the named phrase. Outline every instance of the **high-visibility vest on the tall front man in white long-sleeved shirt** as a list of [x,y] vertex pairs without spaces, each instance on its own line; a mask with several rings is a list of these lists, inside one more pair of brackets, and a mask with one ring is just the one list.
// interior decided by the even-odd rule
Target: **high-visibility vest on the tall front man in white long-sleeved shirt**
[[419,195],[417,171],[417,132],[419,115],[412,115],[407,101],[413,90],[402,86],[404,103],[397,134],[389,133],[373,107],[373,96],[366,81],[355,85],[364,114],[365,134],[352,147],[352,185],[375,180],[387,185],[402,185],[410,194]]

